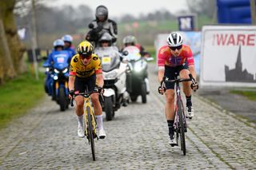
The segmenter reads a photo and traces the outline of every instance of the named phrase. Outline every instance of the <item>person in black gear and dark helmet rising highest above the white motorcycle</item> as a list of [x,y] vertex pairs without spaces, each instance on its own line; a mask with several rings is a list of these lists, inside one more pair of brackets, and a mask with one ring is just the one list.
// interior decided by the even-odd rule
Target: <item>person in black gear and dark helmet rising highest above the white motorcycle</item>
[[96,19],[89,24],[90,31],[86,34],[86,40],[98,47],[98,40],[102,34],[109,33],[112,37],[112,43],[117,41],[118,26],[117,23],[108,18],[108,10],[106,6],[98,6],[96,8]]

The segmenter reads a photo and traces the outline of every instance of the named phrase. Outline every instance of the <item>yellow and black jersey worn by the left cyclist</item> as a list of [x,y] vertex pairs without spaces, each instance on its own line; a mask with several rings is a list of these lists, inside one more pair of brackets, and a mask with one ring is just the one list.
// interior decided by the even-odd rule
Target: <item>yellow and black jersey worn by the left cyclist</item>
[[102,73],[102,64],[96,54],[92,54],[88,65],[83,65],[79,54],[74,55],[70,62],[70,76],[90,77],[94,74]]

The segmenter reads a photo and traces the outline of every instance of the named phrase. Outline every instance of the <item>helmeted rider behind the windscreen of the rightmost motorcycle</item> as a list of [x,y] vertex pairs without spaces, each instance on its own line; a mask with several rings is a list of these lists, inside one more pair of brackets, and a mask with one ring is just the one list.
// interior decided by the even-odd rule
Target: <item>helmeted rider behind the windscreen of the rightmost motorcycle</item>
[[137,43],[137,40],[133,35],[128,35],[125,38],[123,38],[122,44],[124,46],[123,49],[126,48],[126,46],[134,45],[138,47],[139,53],[142,55],[142,57],[150,57],[150,53],[146,52],[145,48],[142,45]]

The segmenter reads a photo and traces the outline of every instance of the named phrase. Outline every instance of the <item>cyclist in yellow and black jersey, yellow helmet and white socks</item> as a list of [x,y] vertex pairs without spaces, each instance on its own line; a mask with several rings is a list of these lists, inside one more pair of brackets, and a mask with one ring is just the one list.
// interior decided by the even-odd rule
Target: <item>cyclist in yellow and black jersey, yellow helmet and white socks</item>
[[[90,42],[81,42],[77,47],[78,54],[72,57],[70,62],[70,77],[69,77],[69,89],[70,98],[74,94],[85,92],[86,86],[91,92],[94,87],[98,85],[98,88],[103,93],[103,77],[102,77],[102,64],[96,54],[93,53],[94,46]],[[102,124],[102,106],[98,101],[98,93],[91,94],[91,101],[94,105],[94,113],[98,125],[98,136],[100,139],[106,137],[106,132],[103,129]],[[78,136],[84,137],[84,118],[83,118],[83,105],[84,97],[78,95],[74,98],[76,102],[75,113],[78,116]]]

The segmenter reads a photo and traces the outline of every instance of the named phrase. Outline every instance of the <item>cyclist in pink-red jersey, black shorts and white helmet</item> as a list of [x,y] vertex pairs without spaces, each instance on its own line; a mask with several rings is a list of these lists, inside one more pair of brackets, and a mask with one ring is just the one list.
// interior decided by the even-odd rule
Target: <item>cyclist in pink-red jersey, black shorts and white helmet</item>
[[[162,85],[162,77],[174,79],[175,73],[181,78],[190,78],[189,73],[196,81],[194,69],[194,57],[190,46],[183,44],[182,35],[176,32],[171,33],[167,38],[167,45],[162,46],[158,51],[158,81]],[[190,81],[182,82],[183,92],[186,96],[186,117],[194,116],[194,109],[191,101],[191,89],[198,89],[198,84],[191,86]],[[191,88],[191,89],[190,89]],[[159,86],[158,93],[166,94],[166,120],[169,128],[169,144],[176,144],[174,140],[174,83],[166,82],[166,87]]]

